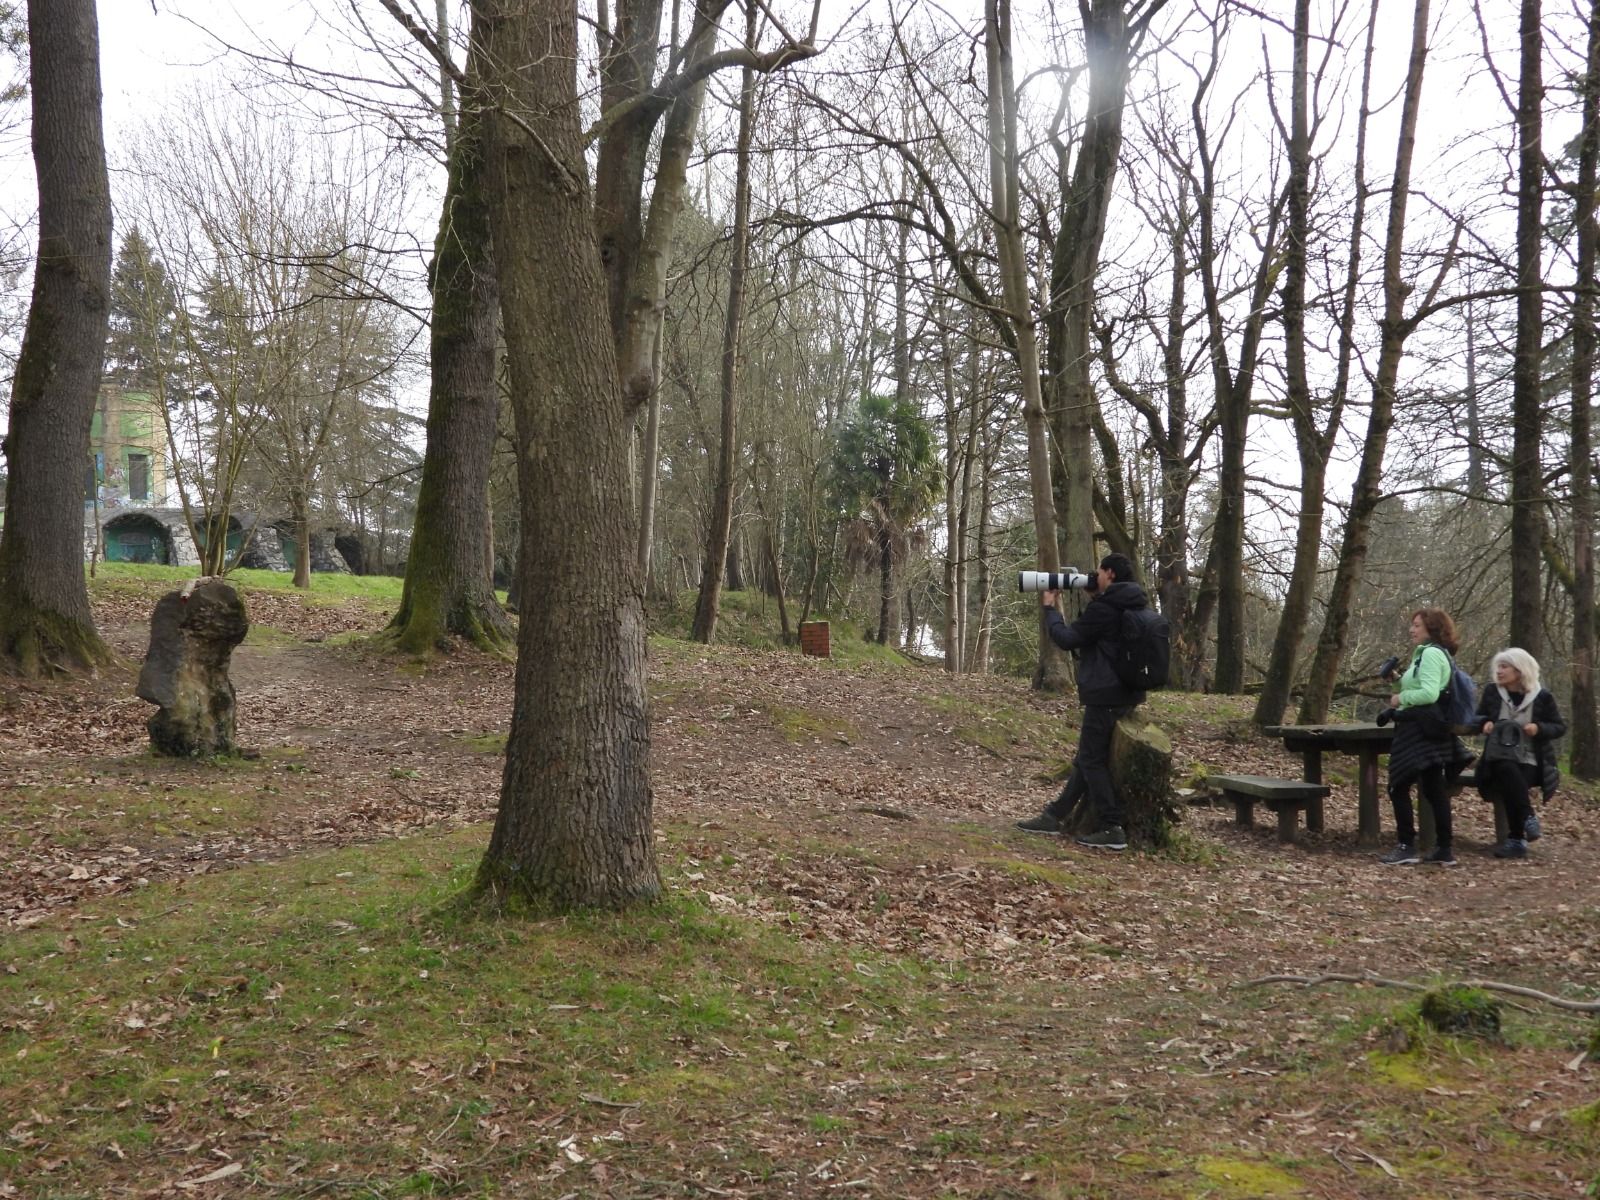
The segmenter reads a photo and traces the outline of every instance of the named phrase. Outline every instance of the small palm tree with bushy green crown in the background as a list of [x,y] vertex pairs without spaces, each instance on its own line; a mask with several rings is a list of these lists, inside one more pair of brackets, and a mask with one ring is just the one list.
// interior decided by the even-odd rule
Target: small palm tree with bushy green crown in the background
[[933,429],[910,400],[866,395],[838,430],[830,477],[840,509],[877,546],[883,579],[877,642],[883,645],[894,598],[894,560],[904,557],[917,522],[939,494]]

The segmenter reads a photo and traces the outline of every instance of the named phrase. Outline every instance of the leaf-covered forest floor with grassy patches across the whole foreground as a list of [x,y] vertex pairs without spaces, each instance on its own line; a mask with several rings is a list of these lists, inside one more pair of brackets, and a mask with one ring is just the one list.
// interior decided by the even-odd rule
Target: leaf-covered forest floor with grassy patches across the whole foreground
[[[98,678],[0,680],[0,1197],[1600,1195],[1595,1019],[1445,1037],[1406,989],[1253,982],[1597,998],[1576,786],[1523,862],[1464,795],[1458,869],[1378,866],[1339,758],[1299,845],[1197,805],[1088,851],[1013,826],[1070,699],[653,637],[669,898],[493,918],[461,898],[510,666],[246,586],[256,757],[157,760],[166,586],[96,581]],[[1181,782],[1298,773],[1238,699],[1149,707]]]

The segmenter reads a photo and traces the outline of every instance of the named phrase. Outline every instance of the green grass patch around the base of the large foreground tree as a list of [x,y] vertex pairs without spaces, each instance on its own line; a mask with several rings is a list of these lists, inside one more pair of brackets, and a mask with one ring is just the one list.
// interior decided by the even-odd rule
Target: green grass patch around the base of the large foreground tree
[[[427,1194],[430,1163],[448,1163],[461,1194],[562,1163],[574,1128],[586,1162],[643,1166],[653,1141],[704,1130],[824,1131],[837,1069],[888,1070],[891,1038],[862,1030],[915,1038],[931,1021],[938,968],[790,939],[690,894],[485,917],[459,902],[480,842],[152,886],[11,936],[0,1166],[29,1195],[101,1195],[214,1170],[219,1147],[280,1189]],[[650,1136],[606,1141],[638,1125],[635,1106]]]

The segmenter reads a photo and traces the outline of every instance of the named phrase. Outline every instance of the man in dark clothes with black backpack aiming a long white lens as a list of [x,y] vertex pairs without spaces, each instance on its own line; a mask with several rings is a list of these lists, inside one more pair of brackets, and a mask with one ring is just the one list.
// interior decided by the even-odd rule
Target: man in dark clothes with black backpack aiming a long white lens
[[1096,830],[1077,840],[1094,850],[1126,850],[1122,800],[1110,782],[1110,736],[1117,722],[1144,704],[1144,693],[1117,678],[1112,650],[1122,637],[1122,614],[1149,608],[1150,598],[1134,581],[1126,555],[1107,554],[1099,570],[1088,578],[1090,603],[1083,614],[1067,624],[1056,608],[1061,592],[1043,592],[1045,629],[1050,640],[1078,656],[1078,701],[1083,704],[1083,726],[1078,730],[1078,752],[1066,787],[1043,813],[1018,821],[1029,834],[1064,832],[1066,821],[1083,795],[1094,805]]

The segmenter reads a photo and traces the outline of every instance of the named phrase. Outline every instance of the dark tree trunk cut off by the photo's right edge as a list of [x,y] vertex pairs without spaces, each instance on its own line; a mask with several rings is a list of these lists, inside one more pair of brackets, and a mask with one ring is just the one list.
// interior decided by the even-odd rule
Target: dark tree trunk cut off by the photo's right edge
[[1568,742],[1573,774],[1600,778],[1600,704],[1595,701],[1595,493],[1589,458],[1594,434],[1589,403],[1595,370],[1595,186],[1600,174],[1600,0],[1589,6],[1589,61],[1582,80],[1582,134],[1573,224],[1578,286],[1573,291],[1573,710]]

